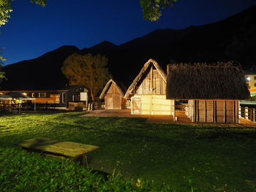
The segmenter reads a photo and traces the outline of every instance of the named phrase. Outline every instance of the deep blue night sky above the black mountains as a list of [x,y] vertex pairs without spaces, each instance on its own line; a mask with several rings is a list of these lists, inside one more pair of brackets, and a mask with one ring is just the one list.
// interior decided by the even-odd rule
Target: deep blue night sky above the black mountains
[[256,4],[256,0],[178,0],[156,21],[143,20],[139,0],[12,1],[10,21],[1,26],[0,47],[12,64],[62,45],[82,49],[102,41],[120,45],[159,28],[186,28],[213,23]]

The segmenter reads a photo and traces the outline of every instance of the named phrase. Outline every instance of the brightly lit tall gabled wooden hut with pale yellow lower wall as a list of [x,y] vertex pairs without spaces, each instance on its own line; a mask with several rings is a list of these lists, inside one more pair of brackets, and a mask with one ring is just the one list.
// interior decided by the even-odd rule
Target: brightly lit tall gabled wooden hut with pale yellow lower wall
[[166,99],[166,74],[153,59],[149,59],[124,98],[131,99],[132,114],[172,115],[173,101]]

